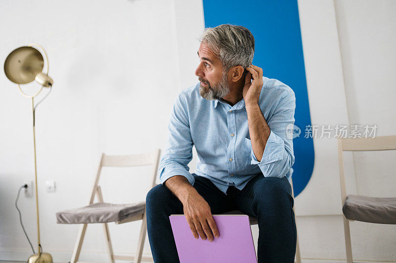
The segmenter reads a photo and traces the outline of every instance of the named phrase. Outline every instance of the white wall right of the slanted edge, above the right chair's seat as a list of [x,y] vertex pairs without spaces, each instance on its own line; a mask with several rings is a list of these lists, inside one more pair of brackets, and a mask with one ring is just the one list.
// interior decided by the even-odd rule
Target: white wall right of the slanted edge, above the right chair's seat
[[[395,135],[396,1],[335,4],[349,120],[377,124],[379,136]],[[395,196],[395,158],[396,151],[354,153],[358,193]]]

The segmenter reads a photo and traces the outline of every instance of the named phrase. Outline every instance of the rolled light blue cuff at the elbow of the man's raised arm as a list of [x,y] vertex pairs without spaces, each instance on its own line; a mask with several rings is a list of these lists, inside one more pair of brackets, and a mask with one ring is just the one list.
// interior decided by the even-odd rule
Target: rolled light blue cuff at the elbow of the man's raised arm
[[285,142],[281,137],[273,133],[269,134],[267,144],[265,145],[263,156],[259,162],[254,155],[253,149],[251,149],[251,161],[250,164],[265,165],[271,162],[275,162],[283,159],[283,151],[285,150]]

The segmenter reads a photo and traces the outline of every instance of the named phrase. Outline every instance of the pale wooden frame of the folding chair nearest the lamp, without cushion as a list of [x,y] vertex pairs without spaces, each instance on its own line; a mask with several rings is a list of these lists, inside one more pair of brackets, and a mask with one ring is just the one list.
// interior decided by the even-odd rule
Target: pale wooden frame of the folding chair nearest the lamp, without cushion
[[[95,179],[94,187],[92,188],[89,204],[90,205],[94,204],[95,195],[97,195],[99,202],[103,203],[102,192],[100,186],[98,185],[102,167],[134,167],[134,166],[153,165],[150,186],[151,188],[154,187],[156,185],[155,180],[158,170],[160,153],[161,153],[160,149],[157,149],[149,153],[133,154],[133,155],[106,155],[102,153],[101,160],[99,163],[98,173]],[[144,198],[144,200],[146,200],[146,198]],[[114,255],[107,223],[103,224],[104,234],[106,238],[106,245],[107,245],[107,253],[109,256],[109,261],[111,263],[114,263],[115,260],[125,260],[125,261],[133,261],[134,263],[140,263],[142,260],[143,246],[145,243],[146,231],[147,231],[146,208],[144,208],[143,211],[140,210],[140,213],[135,213],[135,214],[136,215],[134,215],[133,217],[115,222],[116,224],[123,224],[136,220],[142,220],[142,227],[140,229],[140,234],[139,234],[138,248],[136,250],[135,256]],[[70,261],[71,263],[78,262],[81,252],[81,247],[83,245],[85,232],[87,230],[87,225],[88,224],[83,224],[80,227],[80,231],[78,233],[77,241],[74,246],[72,258]],[[152,258],[150,257],[145,260],[152,261]]]

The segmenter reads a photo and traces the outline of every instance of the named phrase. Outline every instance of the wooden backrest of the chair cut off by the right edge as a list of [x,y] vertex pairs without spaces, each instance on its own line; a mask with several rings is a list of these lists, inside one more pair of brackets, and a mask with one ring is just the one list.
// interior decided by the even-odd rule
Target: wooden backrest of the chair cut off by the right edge
[[342,205],[347,198],[345,186],[343,151],[396,150],[396,135],[375,138],[338,138],[338,163],[340,167],[340,184]]

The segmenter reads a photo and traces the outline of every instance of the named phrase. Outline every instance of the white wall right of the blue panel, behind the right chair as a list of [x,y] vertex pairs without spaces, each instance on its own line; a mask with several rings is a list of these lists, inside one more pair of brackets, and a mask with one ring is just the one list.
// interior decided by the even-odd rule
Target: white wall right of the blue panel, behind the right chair
[[[311,116],[319,117],[318,124],[377,124],[377,136],[395,135],[396,123],[393,112],[396,108],[393,87],[396,77],[392,74],[396,68],[395,1],[336,0],[334,3],[333,0],[298,0],[298,7],[308,95],[310,106],[313,106],[310,109]],[[329,35],[333,34],[334,27],[338,27],[338,36],[328,39]],[[334,38],[339,38],[339,47],[334,44]],[[329,48],[332,41],[333,47]],[[335,50],[339,50],[339,54],[334,53]],[[329,56],[330,54],[333,55]],[[342,74],[326,77],[340,67],[343,70]],[[338,90],[339,94],[344,93],[345,96],[338,97],[338,100],[344,99],[347,102],[347,108],[343,109],[346,112],[342,114],[339,114],[340,107],[343,108],[344,105],[340,105],[334,97],[328,100],[329,94],[332,96],[335,90]],[[324,97],[326,100],[321,99]],[[322,101],[333,105],[321,109],[318,104]],[[331,116],[333,120],[338,118],[336,123],[326,122],[328,118],[324,118],[327,117],[324,112],[329,110],[334,112]],[[345,122],[345,113],[348,122]],[[334,152],[331,147],[323,148],[325,144],[321,139],[316,140],[316,156]],[[346,162],[348,193],[378,197],[395,196],[396,173],[395,163],[392,161],[395,159],[394,151],[361,152],[344,156],[349,157]],[[333,157],[334,154],[327,154],[328,162],[332,162]],[[312,188],[315,180],[325,183],[324,176],[332,177],[331,182],[339,184],[338,171],[328,172],[329,169],[338,169],[338,163],[332,163],[332,166],[326,167],[325,163],[320,165],[315,160],[313,182],[309,183],[311,186],[308,184],[307,189]],[[323,173],[318,174],[318,170]],[[317,197],[321,199],[322,187],[319,186],[318,189]],[[334,192],[339,194],[339,185]],[[317,200],[311,202],[309,198],[304,198],[305,194],[302,192],[301,196],[296,198],[296,221],[302,257],[345,259],[341,198],[324,194],[326,198],[333,200],[330,201],[331,205],[337,204],[334,201],[338,202],[339,215],[318,213],[317,216],[310,216],[298,213],[302,210],[309,211],[309,207],[318,204]],[[316,199],[315,196],[310,197]],[[320,212],[319,209],[317,211]],[[350,228],[354,261],[396,262],[395,225],[353,222],[350,223]]]

